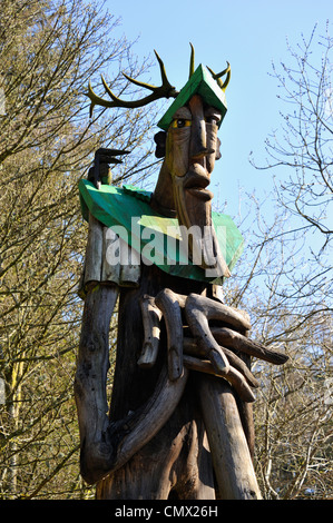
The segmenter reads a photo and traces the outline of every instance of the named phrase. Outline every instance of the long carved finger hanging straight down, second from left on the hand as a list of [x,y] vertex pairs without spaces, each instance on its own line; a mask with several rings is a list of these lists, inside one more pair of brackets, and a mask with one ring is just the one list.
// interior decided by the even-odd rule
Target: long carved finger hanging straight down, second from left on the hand
[[170,289],[158,293],[155,304],[163,313],[168,345],[169,379],[176,381],[183,374],[183,320],[177,295]]

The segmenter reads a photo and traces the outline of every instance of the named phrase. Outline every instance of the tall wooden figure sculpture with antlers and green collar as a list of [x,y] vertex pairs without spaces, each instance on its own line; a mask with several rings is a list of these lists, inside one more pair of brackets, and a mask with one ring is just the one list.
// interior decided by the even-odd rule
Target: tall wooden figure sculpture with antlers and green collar
[[[97,165],[80,181],[89,221],[75,381],[81,474],[97,483],[98,499],[259,499],[252,462],[253,387],[258,384],[249,357],[277,365],[286,357],[252,342],[247,314],[222,297],[242,237],[228,217],[212,213],[207,186],[219,158],[217,131],[231,70],[195,70],[192,53],[189,80],[178,93],[157,58],[163,86],[144,85],[153,93],[141,100],[119,100],[104,80],[111,98],[105,100],[89,86],[92,106],[175,100],[155,137],[157,157],[165,159],[151,195],[104,184]],[[125,152],[111,151],[106,162]],[[224,246],[218,223],[224,224]],[[182,264],[176,250],[167,253],[166,262],[147,263],[147,238],[140,233],[145,224],[150,231],[158,225],[158,245],[170,239],[167,225],[178,224],[183,231],[195,226],[196,234],[177,237],[178,247],[182,241],[188,246],[188,263]],[[109,325],[118,298],[109,408]]]

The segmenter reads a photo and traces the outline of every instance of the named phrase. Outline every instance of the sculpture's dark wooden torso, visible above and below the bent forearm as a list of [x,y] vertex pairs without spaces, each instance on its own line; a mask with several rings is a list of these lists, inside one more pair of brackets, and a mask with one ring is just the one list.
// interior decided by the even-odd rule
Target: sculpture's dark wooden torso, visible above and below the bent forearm
[[[110,405],[110,422],[115,426],[128,413],[141,412],[141,406],[149,402],[156,389],[161,368],[167,368],[167,333],[164,320],[160,324],[160,343],[155,365],[151,368],[137,365],[146,339],[141,300],[145,296],[157,296],[165,288],[185,294],[188,282],[169,277],[155,266],[143,266],[139,287],[121,290],[117,362]],[[194,288],[196,293],[205,292],[203,284],[194,283]],[[170,383],[177,384],[179,379]],[[215,497],[212,458],[207,444],[203,444],[206,435],[195,389],[196,382],[189,376],[172,416],[123,467],[98,483],[98,497]]]

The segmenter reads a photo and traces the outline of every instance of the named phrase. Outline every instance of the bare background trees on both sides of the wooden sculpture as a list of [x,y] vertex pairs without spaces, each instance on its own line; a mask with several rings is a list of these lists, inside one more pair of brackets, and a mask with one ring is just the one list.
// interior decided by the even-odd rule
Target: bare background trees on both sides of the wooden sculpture
[[[143,184],[156,162],[150,109],[88,116],[90,78],[98,83],[100,72],[111,73],[121,92],[121,70],[136,77],[149,68],[117,36],[118,23],[98,2],[1,1],[2,499],[94,497],[79,475],[72,392],[87,235],[77,182],[100,146],[133,151],[115,169],[115,184]],[[315,45],[313,36],[304,39],[288,49],[294,63],[273,69],[292,103],[282,106],[280,136],[267,139],[271,160],[256,168],[280,166],[290,177],[270,196],[274,219],[264,219],[253,196],[253,223],[235,217],[251,243],[226,287],[227,302],[251,314],[253,336],[290,356],[283,368],[254,363],[262,384],[255,466],[268,499],[332,496],[329,33],[320,40],[321,63],[312,62]],[[317,248],[307,240],[312,229],[323,238]]]

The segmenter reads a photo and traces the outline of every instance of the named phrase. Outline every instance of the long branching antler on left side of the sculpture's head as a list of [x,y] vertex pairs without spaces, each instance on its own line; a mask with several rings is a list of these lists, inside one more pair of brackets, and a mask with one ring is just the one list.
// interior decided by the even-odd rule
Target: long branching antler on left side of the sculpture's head
[[150,103],[151,101],[158,100],[160,98],[176,98],[178,96],[178,91],[176,91],[175,87],[170,85],[170,82],[167,79],[165,67],[163,60],[159,58],[158,53],[154,50],[156,58],[159,63],[159,69],[160,69],[160,76],[161,76],[161,86],[160,87],[155,87],[150,86],[149,83],[145,83],[143,81],[135,80],[134,78],[130,78],[129,76],[125,76],[127,80],[130,82],[135,83],[136,86],[144,87],[145,89],[149,89],[151,95],[146,96],[145,98],[141,98],[140,100],[133,100],[133,101],[126,101],[126,100],[120,100],[120,98],[116,97],[109,86],[107,85],[104,76],[101,75],[101,81],[105,87],[105,90],[111,98],[111,100],[105,100],[104,98],[99,97],[94,92],[91,83],[89,81],[88,86],[88,92],[86,93],[90,100],[91,100],[91,106],[90,106],[90,117],[92,115],[92,110],[95,106],[102,106],[102,107],[125,107],[127,109],[134,109],[137,107],[143,107],[146,106],[147,103]]

